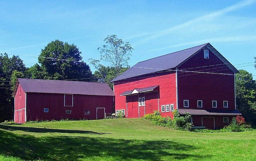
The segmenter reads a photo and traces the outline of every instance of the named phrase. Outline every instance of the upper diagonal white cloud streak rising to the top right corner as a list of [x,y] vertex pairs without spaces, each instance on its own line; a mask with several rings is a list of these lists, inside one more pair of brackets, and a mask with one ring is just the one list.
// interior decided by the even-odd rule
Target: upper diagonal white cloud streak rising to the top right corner
[[233,4],[231,6],[228,6],[228,7],[224,8],[224,9],[221,9],[221,10],[218,10],[218,11],[212,12],[210,14],[206,14],[206,15],[200,16],[200,17],[196,17],[196,18],[194,18],[192,20],[189,20],[189,21],[187,21],[187,22],[185,22],[183,24],[176,25],[176,26],[164,29],[164,30],[156,32],[156,33],[152,32],[153,34],[151,34],[151,36],[148,36],[145,39],[140,40],[138,42],[138,44],[146,43],[146,42],[148,42],[150,40],[153,40],[153,39],[159,38],[161,36],[165,36],[165,35],[171,34],[171,33],[175,32],[175,31],[178,31],[178,30],[184,30],[184,28],[186,28],[186,27],[193,27],[193,24],[197,24],[197,23],[200,23],[200,22],[205,21],[205,20],[211,20],[211,19],[214,19],[216,17],[223,16],[223,15],[225,15],[228,12],[239,10],[239,9],[244,8],[246,6],[249,6],[249,5],[251,5],[251,4],[255,3],[255,2],[256,2],[256,0],[240,1],[240,2],[238,2],[236,4]]

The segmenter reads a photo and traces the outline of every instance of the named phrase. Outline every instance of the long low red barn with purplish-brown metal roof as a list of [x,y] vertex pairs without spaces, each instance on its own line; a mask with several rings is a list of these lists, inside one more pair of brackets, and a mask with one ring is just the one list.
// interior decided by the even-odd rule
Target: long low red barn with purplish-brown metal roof
[[13,91],[14,122],[103,119],[112,113],[114,93],[106,83],[18,79]]

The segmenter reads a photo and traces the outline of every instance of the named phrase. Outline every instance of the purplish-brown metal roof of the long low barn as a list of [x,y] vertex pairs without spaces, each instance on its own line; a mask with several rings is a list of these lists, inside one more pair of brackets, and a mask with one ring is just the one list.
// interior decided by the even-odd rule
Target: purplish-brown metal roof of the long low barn
[[[85,94],[114,96],[114,92],[107,83],[81,82],[81,81],[57,81],[18,78],[24,92],[35,93],[60,93],[60,94]],[[16,84],[17,88],[17,84]],[[17,89],[14,90],[13,96]]]

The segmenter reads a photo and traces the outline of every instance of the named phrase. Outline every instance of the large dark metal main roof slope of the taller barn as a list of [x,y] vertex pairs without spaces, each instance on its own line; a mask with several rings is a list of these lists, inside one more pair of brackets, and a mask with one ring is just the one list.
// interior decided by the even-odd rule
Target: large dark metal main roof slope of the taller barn
[[[181,62],[186,60],[188,57],[196,53],[198,50],[200,50],[207,44],[208,43],[191,47],[188,49],[184,49],[178,52],[162,55],[156,58],[141,61],[135,64],[133,67],[126,70],[123,74],[117,76],[111,82],[132,78],[132,77],[136,77],[143,74],[159,72],[165,69],[175,68]],[[138,68],[138,67],[142,67],[142,68]],[[145,68],[154,68],[154,69],[145,69]]]

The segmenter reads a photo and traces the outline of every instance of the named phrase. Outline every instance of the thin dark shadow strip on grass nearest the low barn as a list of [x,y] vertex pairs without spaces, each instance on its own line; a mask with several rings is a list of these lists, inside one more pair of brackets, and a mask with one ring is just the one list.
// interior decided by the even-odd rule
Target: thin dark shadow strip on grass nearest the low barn
[[86,130],[66,130],[66,129],[47,129],[47,128],[34,128],[34,127],[22,127],[22,126],[9,126],[0,124],[0,129],[5,130],[21,130],[26,132],[37,132],[37,133],[46,133],[46,132],[58,132],[58,133],[78,133],[78,134],[109,134],[109,133],[100,133],[95,131],[86,131]]

